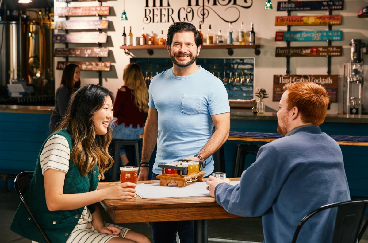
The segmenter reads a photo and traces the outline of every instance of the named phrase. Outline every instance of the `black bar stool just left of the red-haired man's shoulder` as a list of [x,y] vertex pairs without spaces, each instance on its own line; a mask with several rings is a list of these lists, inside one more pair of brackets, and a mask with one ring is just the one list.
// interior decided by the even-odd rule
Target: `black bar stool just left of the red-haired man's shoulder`
[[233,177],[241,177],[244,171],[247,154],[256,155],[261,145],[254,143],[238,143],[235,149]]

